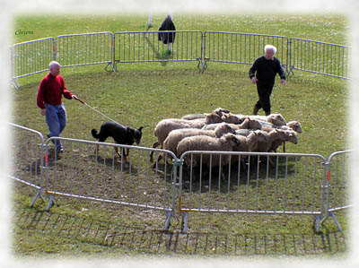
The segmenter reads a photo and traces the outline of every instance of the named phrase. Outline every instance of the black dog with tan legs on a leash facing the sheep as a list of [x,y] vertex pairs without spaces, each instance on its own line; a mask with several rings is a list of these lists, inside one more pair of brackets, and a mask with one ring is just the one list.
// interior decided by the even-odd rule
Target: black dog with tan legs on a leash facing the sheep
[[[142,138],[142,129],[140,128],[132,128],[126,125],[120,125],[118,123],[106,122],[101,125],[100,132],[97,133],[96,129],[92,129],[91,134],[95,139],[98,139],[99,142],[103,143],[108,137],[112,137],[115,143],[132,145],[136,143],[139,145]],[[97,146],[99,149],[99,146]],[[115,147],[115,151],[118,153],[118,156],[121,157],[121,154],[118,152],[118,147]],[[129,149],[127,148],[127,152],[124,153],[124,160],[127,163],[127,155]]]

